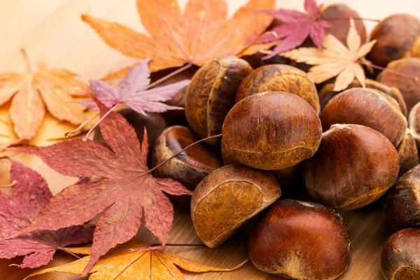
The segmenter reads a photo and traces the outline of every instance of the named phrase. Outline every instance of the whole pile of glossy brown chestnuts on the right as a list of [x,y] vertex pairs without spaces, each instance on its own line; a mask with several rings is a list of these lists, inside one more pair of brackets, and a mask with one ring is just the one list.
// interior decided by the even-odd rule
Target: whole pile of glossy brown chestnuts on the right
[[[323,15],[358,16],[342,4]],[[330,32],[347,34],[348,21],[335,25]],[[363,23],[357,28],[366,41]],[[146,126],[151,166],[209,138],[154,172],[193,190],[191,217],[205,245],[223,244],[265,210],[248,240],[255,267],[292,279],[335,279],[351,262],[349,232],[336,210],[383,197],[400,231],[384,245],[382,272],[420,279],[420,21],[393,15],[371,38],[378,42],[368,59],[418,78],[384,71],[364,88],[354,80],[334,92],[331,81],[318,92],[305,65],[259,60],[251,67],[249,57],[225,56],[185,73],[191,83],[176,104],[185,116],[121,111],[139,138]]]

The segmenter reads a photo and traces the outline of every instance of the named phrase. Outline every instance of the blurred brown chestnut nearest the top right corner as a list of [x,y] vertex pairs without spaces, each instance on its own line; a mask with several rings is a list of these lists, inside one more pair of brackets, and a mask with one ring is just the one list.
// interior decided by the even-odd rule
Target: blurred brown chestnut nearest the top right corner
[[412,15],[390,15],[381,20],[370,34],[370,40],[377,40],[367,54],[372,64],[386,67],[389,62],[402,57],[420,55],[418,38],[420,20]]

